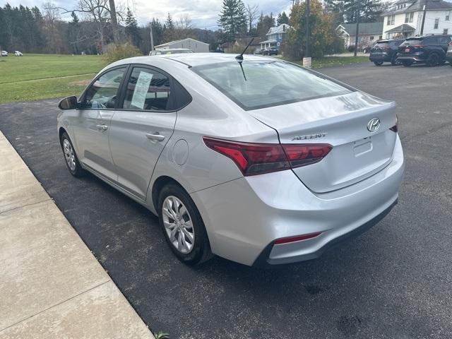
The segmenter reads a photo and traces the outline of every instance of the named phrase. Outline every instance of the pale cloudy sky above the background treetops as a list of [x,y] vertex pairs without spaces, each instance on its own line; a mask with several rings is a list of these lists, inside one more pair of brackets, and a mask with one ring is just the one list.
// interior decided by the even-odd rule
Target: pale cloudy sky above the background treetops
[[[4,6],[8,2],[11,6],[38,6],[42,8],[44,1],[35,0],[0,0],[0,5]],[[54,0],[51,1],[57,6],[64,8],[75,8],[76,0]],[[222,0],[116,0],[117,6],[129,6],[135,13],[138,23],[145,25],[151,18],[159,18],[165,20],[167,13],[171,13],[174,20],[180,16],[188,14],[192,23],[197,28],[207,28],[215,30],[217,28],[218,13],[222,7]],[[246,4],[258,5],[259,11],[264,14],[273,12],[277,16],[281,11],[288,11],[291,0],[246,0]],[[119,5],[121,4],[121,5]]]

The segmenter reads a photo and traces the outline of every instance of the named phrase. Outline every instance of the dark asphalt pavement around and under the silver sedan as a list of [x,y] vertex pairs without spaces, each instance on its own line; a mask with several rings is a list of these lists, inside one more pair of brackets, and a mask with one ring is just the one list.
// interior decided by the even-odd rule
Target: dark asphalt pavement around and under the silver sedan
[[452,67],[322,70],[398,102],[399,204],[315,261],[264,270],[175,259],[155,218],[71,177],[55,100],[0,105],[0,129],[153,331],[171,338],[452,338]]

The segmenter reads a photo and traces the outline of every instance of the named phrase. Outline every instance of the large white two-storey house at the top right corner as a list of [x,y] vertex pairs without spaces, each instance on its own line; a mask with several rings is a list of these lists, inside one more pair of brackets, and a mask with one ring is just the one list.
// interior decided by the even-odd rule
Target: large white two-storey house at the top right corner
[[383,37],[413,37],[421,34],[423,8],[426,6],[423,34],[452,34],[452,4],[443,0],[400,0],[381,14]]

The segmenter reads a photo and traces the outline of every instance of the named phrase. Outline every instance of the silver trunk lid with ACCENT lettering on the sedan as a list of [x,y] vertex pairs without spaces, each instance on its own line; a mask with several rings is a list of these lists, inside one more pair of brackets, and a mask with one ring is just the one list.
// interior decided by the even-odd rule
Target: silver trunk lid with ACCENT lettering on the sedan
[[[328,143],[333,146],[320,162],[292,169],[316,193],[355,184],[391,162],[396,133],[395,104],[365,93],[295,102],[249,111],[278,132],[280,143]],[[379,119],[376,131],[367,125]]]

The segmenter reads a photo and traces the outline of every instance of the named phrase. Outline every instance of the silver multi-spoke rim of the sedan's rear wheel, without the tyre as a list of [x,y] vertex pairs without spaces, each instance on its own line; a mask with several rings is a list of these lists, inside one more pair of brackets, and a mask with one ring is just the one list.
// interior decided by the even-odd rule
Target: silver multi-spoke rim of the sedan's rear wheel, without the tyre
[[169,242],[177,251],[190,253],[194,246],[195,232],[184,203],[176,196],[167,196],[162,204],[162,219]]

